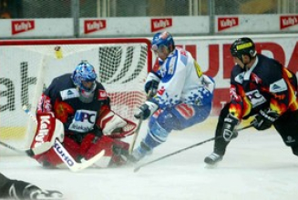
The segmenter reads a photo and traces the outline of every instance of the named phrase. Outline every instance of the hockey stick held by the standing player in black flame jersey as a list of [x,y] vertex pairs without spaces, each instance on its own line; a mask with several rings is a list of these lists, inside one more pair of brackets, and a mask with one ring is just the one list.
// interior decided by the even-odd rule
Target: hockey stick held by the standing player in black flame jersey
[[[252,127],[252,126],[253,126],[253,124],[251,124],[251,125],[247,125],[247,126],[244,126],[244,127],[242,127],[242,128],[237,129],[237,131],[241,131],[241,130],[247,129],[247,128],[250,128],[250,127]],[[167,158],[167,157],[170,157],[171,155],[177,155],[177,154],[179,154],[180,152],[184,152],[184,151],[186,151],[186,150],[188,150],[188,149],[190,149],[190,148],[193,148],[193,147],[198,146],[198,145],[203,145],[203,144],[205,144],[205,143],[211,142],[211,141],[213,141],[213,140],[215,140],[215,139],[217,139],[217,138],[221,138],[221,137],[222,137],[222,136],[212,137],[212,138],[210,138],[210,139],[208,139],[208,140],[204,140],[204,141],[202,141],[202,142],[200,142],[200,143],[197,143],[197,144],[190,145],[190,146],[188,146],[188,147],[182,148],[182,149],[180,149],[180,150],[178,150],[178,151],[176,151],[176,152],[173,152],[173,153],[171,153],[171,154],[169,154],[169,155],[163,155],[163,156],[161,156],[161,157],[159,157],[159,158],[157,158],[157,159],[155,159],[155,160],[149,161],[149,162],[147,162],[147,163],[144,163],[144,164],[142,164],[142,165],[139,165],[139,166],[135,167],[135,169],[133,170],[133,172],[138,172],[139,169],[140,169],[141,167],[144,167],[144,166],[147,166],[147,165],[156,163],[156,162],[158,162],[159,160],[163,160],[163,159],[165,159],[165,158]]]

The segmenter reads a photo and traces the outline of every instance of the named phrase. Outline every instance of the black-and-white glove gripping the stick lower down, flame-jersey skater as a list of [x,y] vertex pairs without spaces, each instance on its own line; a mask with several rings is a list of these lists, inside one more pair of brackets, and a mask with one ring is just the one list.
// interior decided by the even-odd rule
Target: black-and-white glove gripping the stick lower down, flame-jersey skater
[[235,131],[235,127],[238,124],[239,119],[236,116],[229,114],[226,116],[226,118],[224,118],[222,136],[226,142],[230,142],[232,138],[235,138],[237,136],[237,131]]

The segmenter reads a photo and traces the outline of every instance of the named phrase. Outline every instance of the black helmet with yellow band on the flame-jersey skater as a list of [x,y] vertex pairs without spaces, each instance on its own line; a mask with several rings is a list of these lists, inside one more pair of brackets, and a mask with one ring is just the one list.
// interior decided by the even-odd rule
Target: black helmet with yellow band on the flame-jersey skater
[[233,42],[233,44],[231,44],[230,51],[233,57],[238,57],[241,61],[242,55],[249,55],[250,58],[252,58],[257,54],[252,39],[248,37],[241,37]]

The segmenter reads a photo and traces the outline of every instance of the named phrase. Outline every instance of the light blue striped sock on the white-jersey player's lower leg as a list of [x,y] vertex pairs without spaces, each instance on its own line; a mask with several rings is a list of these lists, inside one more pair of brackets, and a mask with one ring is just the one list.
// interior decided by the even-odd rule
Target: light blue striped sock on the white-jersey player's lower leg
[[148,134],[143,142],[150,148],[154,148],[157,145],[166,142],[169,134],[170,132],[159,125],[158,121],[154,121],[149,125]]

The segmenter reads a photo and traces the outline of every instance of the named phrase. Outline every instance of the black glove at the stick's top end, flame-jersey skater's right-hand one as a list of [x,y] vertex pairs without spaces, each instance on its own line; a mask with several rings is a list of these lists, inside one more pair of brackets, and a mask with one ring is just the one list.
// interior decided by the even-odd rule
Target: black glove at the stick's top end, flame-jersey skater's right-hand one
[[255,127],[255,129],[262,131],[270,128],[272,124],[275,122],[275,120],[279,117],[275,111],[272,111],[271,109],[268,110],[260,110],[259,114],[255,116],[255,118],[252,120],[252,124]]

